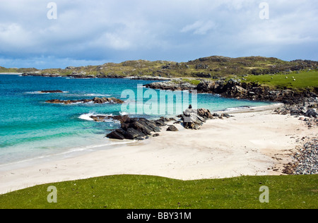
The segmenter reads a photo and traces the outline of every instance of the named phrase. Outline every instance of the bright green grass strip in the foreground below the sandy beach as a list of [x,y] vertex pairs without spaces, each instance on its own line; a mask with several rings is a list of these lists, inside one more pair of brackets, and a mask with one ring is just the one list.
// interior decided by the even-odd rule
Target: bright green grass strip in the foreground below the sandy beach
[[[57,203],[47,202],[48,186]],[[260,203],[261,186],[269,203]],[[318,176],[242,176],[179,181],[158,176],[118,175],[35,186],[0,195],[0,208],[214,209],[318,207]]]

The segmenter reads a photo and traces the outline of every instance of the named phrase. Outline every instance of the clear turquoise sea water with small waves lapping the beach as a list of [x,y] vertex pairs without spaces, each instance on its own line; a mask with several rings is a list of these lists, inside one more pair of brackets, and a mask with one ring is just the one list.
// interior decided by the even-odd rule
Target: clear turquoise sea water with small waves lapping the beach
[[[124,97],[123,100],[136,105],[135,111],[146,102],[158,100],[147,97],[139,100],[138,93],[147,92],[141,85],[151,83],[145,80],[128,79],[73,79],[23,77],[12,75],[0,76],[0,165],[19,162],[34,157],[45,157],[68,151],[86,150],[95,145],[110,145],[111,141],[105,135],[118,128],[119,123],[108,121],[97,123],[90,120],[91,114],[119,115],[130,113],[132,116],[145,116],[154,119],[158,116],[174,116],[167,111],[156,114],[134,114],[123,110],[121,104],[47,104],[46,100],[79,100],[93,97],[122,97],[124,90],[134,92],[135,98]],[[139,87],[139,88],[138,88]],[[62,90],[64,93],[40,94],[40,90]],[[173,92],[166,92],[167,95]],[[139,94],[140,95],[140,94]],[[184,100],[182,109],[192,103]],[[168,96],[167,96],[168,97]],[[194,102],[194,101],[193,101]],[[165,106],[178,107],[179,101],[166,102]],[[219,111],[233,107],[261,106],[269,103],[233,100],[217,95],[197,95],[197,107]],[[161,104],[163,106],[163,104]],[[127,104],[124,104],[127,107]],[[149,106],[146,106],[149,107]],[[153,109],[153,105],[150,107]],[[129,107],[129,111],[131,107]],[[159,110],[159,107],[158,107]],[[176,109],[174,109],[175,111]],[[175,111],[176,113],[177,111]],[[134,114],[134,115],[133,115]]]

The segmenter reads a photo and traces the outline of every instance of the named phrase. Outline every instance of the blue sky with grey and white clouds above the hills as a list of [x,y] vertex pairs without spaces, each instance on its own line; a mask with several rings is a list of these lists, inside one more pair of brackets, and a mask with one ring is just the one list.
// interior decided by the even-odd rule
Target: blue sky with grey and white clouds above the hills
[[318,60],[317,15],[315,0],[1,0],[0,66],[213,55]]

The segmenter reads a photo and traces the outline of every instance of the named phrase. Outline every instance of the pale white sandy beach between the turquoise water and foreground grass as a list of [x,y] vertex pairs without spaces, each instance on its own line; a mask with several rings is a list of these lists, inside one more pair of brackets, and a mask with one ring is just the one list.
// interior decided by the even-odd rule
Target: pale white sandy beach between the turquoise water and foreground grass
[[43,183],[88,179],[114,174],[141,174],[172,179],[220,179],[279,175],[290,154],[309,130],[293,116],[273,114],[276,104],[228,112],[230,119],[213,119],[201,130],[163,131],[159,137],[112,150],[55,160],[32,167],[1,171],[0,193]]

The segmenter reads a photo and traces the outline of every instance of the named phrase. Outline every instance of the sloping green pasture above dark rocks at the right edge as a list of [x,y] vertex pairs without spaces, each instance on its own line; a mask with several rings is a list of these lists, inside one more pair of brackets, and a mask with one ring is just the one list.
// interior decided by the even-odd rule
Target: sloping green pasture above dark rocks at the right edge
[[317,70],[279,75],[248,76],[246,79],[247,82],[256,82],[262,85],[269,85],[270,87],[281,89],[291,88],[295,90],[303,90],[305,88],[312,89],[318,87]]

